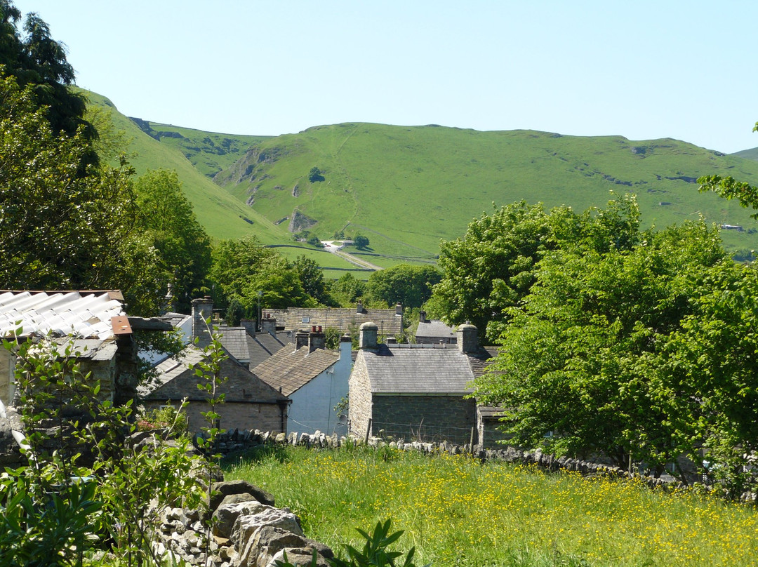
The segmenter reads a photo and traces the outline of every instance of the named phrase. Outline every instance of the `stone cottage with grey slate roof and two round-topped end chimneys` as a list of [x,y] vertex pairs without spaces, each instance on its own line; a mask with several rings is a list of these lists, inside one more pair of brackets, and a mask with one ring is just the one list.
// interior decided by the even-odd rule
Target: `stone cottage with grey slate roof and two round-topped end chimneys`
[[463,324],[457,344],[378,344],[377,326],[361,325],[360,349],[350,374],[349,431],[478,443],[471,381],[496,355],[478,345],[477,328]]

